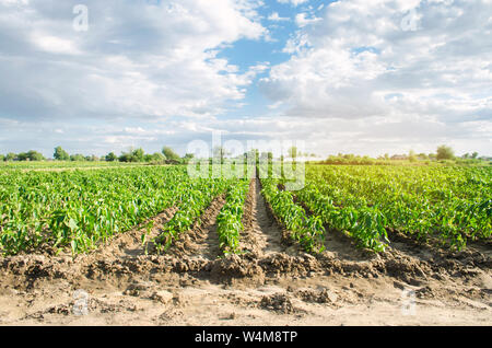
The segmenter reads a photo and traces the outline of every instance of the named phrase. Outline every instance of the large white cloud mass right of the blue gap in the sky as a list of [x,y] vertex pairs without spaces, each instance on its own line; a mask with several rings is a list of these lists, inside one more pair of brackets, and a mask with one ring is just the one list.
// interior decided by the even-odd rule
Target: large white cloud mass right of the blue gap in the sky
[[291,37],[293,56],[261,90],[284,115],[419,119],[470,138],[492,121],[491,15],[488,0],[332,2]]

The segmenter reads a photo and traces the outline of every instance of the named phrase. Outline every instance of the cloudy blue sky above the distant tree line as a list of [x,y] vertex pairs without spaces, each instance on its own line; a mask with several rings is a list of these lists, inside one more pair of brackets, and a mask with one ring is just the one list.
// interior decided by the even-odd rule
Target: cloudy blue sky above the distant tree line
[[491,155],[491,34],[488,0],[0,0],[0,153]]

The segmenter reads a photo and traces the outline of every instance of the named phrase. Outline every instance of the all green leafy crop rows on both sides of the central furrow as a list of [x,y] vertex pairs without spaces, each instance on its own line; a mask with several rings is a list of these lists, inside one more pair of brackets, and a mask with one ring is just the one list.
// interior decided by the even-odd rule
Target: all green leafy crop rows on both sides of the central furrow
[[[43,165],[48,170],[66,164]],[[222,194],[221,251],[241,252],[248,179],[190,178],[186,166],[2,169],[2,254],[46,246],[84,253],[142,222],[150,228],[153,217],[177,207],[154,241],[165,252]],[[291,237],[311,253],[325,248],[330,230],[375,252],[385,251],[391,230],[460,250],[469,240],[491,237],[491,179],[490,167],[307,165],[302,190],[284,190],[285,179],[261,178],[261,193]]]

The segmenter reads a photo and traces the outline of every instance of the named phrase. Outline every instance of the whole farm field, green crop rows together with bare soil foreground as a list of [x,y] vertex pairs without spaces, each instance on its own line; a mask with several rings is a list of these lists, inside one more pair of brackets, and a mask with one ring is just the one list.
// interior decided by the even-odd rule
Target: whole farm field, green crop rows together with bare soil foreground
[[308,165],[289,192],[186,166],[2,167],[0,324],[491,325],[491,179]]

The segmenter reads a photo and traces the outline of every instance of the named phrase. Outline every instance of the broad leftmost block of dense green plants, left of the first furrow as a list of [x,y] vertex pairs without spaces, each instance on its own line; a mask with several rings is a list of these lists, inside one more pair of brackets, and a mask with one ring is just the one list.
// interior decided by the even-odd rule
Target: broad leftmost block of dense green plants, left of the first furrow
[[175,205],[178,167],[0,175],[0,252],[43,245],[83,253]]

